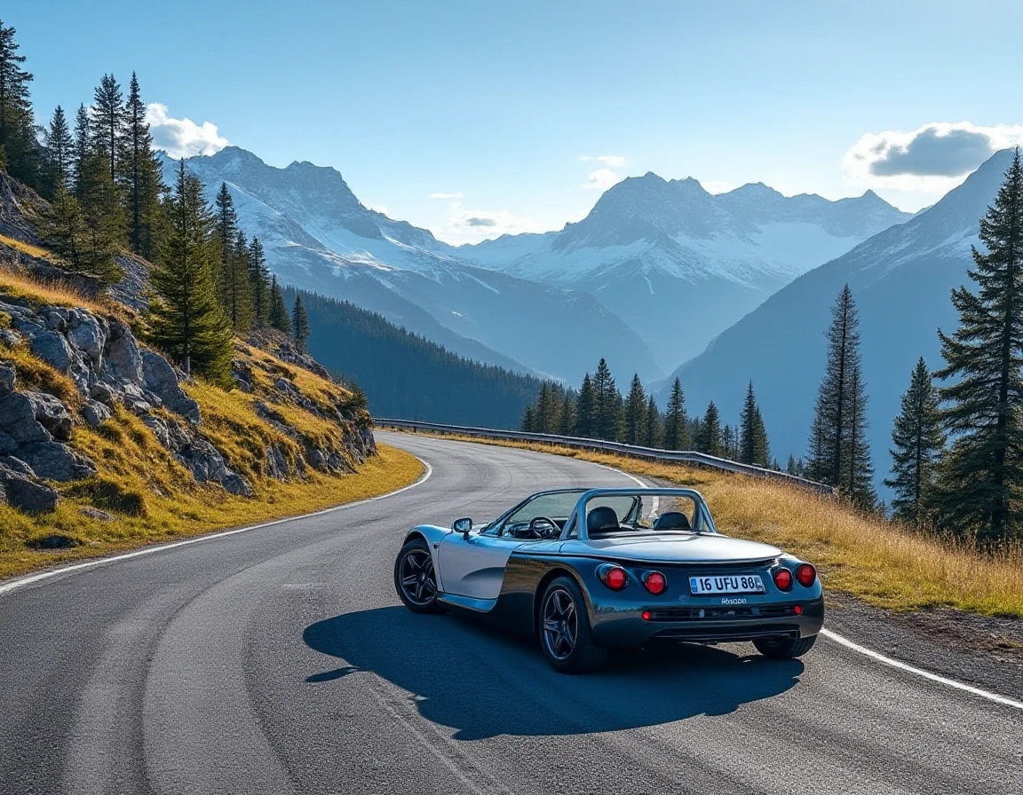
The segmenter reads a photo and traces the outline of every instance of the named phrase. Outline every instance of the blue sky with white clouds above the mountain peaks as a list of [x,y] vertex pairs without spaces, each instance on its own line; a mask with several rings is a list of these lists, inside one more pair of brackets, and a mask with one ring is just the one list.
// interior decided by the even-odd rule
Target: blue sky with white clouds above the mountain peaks
[[135,69],[164,140],[333,166],[453,242],[560,228],[647,171],[917,209],[1023,138],[997,59],[1020,3],[14,0],[2,19],[41,119]]

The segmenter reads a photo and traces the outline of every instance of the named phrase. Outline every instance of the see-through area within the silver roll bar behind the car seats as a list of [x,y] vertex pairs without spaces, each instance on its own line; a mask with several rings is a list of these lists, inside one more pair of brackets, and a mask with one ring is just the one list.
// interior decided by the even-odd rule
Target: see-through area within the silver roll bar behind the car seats
[[[614,511],[614,519],[602,510],[607,508]],[[594,510],[602,510],[602,513],[590,522],[589,517]],[[594,497],[586,502],[585,511],[590,536],[614,532],[701,532],[708,529],[697,502],[691,497],[662,496],[656,492]]]

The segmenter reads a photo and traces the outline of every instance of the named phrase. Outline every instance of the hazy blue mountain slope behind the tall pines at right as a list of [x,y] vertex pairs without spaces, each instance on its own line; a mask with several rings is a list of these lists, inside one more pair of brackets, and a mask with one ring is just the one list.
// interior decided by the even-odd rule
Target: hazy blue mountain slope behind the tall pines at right
[[[799,277],[720,334],[673,374],[691,411],[713,400],[722,416],[738,417],[752,379],[773,454],[783,462],[790,453],[804,454],[827,357],[825,331],[848,283],[859,311],[869,437],[884,477],[909,372],[921,356],[931,369],[942,364],[937,329],[958,325],[949,293],[970,283],[978,221],[1011,159],[1009,150],[995,153],[933,206]],[[667,390],[659,394],[662,402]]]

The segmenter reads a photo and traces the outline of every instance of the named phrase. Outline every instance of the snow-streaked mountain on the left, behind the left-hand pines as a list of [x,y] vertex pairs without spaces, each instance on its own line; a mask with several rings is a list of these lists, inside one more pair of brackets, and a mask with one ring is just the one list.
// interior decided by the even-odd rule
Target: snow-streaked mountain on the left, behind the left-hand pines
[[[165,158],[171,181],[175,163]],[[663,374],[635,331],[586,292],[474,266],[424,229],[362,205],[341,174],[277,169],[227,147],[186,160],[212,198],[225,183],[239,225],[285,284],[342,298],[487,364],[576,382],[606,357]]]

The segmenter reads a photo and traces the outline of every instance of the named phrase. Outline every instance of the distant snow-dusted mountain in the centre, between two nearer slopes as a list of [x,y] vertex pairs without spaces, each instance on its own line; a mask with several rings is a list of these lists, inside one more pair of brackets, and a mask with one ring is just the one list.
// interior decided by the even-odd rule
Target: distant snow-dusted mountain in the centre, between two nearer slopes
[[509,276],[595,295],[670,370],[796,277],[910,217],[873,191],[830,201],[756,183],[712,195],[695,179],[648,173],[559,232],[458,250]]

